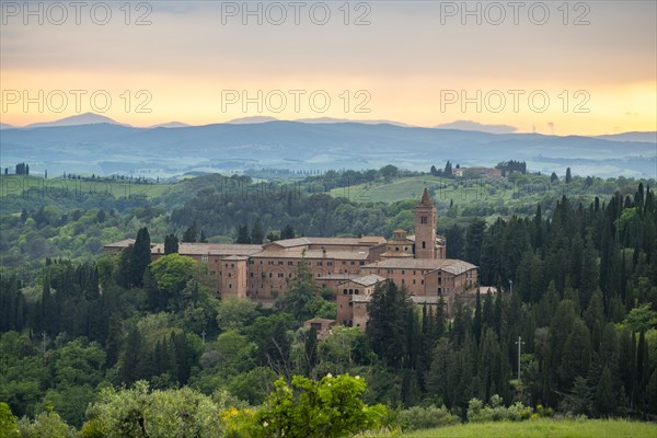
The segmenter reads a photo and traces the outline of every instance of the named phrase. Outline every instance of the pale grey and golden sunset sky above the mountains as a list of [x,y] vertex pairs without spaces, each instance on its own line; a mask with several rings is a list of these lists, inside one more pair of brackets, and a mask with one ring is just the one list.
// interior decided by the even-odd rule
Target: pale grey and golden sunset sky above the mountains
[[94,112],[657,130],[656,1],[0,3],[14,126]]

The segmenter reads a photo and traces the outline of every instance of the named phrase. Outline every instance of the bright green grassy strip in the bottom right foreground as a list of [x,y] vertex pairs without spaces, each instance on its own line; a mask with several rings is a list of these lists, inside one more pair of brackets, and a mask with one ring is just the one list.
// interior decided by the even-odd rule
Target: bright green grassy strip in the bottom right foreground
[[625,420],[554,420],[521,423],[479,423],[404,434],[403,438],[650,438],[657,437],[657,424]]

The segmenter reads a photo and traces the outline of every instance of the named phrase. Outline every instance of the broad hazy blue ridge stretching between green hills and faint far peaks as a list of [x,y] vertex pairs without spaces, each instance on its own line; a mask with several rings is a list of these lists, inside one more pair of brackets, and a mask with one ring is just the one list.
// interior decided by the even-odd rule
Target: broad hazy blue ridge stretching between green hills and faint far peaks
[[[264,122],[180,129],[116,123],[7,129],[0,138],[3,165],[30,162],[89,174],[177,175],[191,171],[245,169],[376,169],[394,164],[425,170],[431,164],[494,165],[528,162],[541,172],[655,177],[656,143],[581,136],[489,134],[390,124]],[[34,165],[33,165],[34,164]]]

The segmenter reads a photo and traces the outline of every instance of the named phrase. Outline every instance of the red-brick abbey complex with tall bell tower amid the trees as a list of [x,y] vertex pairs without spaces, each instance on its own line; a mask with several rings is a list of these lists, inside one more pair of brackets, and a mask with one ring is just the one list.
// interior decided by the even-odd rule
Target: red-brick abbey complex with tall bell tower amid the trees
[[[302,260],[315,281],[333,290],[337,323],[365,330],[367,302],[376,286],[391,280],[404,286],[412,300],[452,314],[460,302],[471,301],[477,290],[477,267],[446,258],[446,239],[436,233],[437,210],[427,189],[415,206],[415,234],[395,230],[382,237],[295,238],[264,244],[181,243],[178,253],[207,264],[217,277],[220,297],[249,298],[270,306],[287,290]],[[105,245],[106,253],[132,244],[132,239]],[[163,244],[151,244],[151,257],[164,255]]]

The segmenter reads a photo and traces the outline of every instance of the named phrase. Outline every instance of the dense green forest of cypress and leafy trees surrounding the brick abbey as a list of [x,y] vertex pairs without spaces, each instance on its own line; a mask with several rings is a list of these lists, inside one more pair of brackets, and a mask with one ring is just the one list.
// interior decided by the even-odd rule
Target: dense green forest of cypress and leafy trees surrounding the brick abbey
[[[477,264],[481,281],[503,293],[479,296],[447,320],[390,284],[374,295],[366,333],[337,327],[318,339],[301,323],[330,314],[332,302],[303,265],[276,307],[263,309],[215,297],[191,258],[150,263],[145,244],[194,222],[210,239],[234,237],[256,219],[265,232],[388,235],[411,228],[416,200],[254,197],[204,186],[216,177],[197,180],[186,197],[178,187],[153,199],[113,197],[102,208],[10,199],[13,211],[1,219],[0,402],[11,412],[0,414],[10,423],[26,416],[18,422],[24,436],[54,425],[61,436],[73,436],[69,426],[112,436],[111,425],[146,436],[145,424],[158,424],[149,406],[160,404],[192,410],[178,426],[208,434],[199,436],[270,436],[253,427],[256,419],[280,426],[272,406],[309,415],[322,404],[302,394],[331,399],[331,379],[345,373],[353,378],[335,387],[358,395],[360,411],[370,406],[357,420],[371,427],[484,414],[657,415],[657,200],[647,185],[615,181],[615,194],[587,200],[542,196],[531,215],[496,220],[448,216],[449,256]],[[137,234],[120,254],[93,256]],[[343,407],[345,417],[354,412]],[[203,423],[201,413],[216,420]]]

